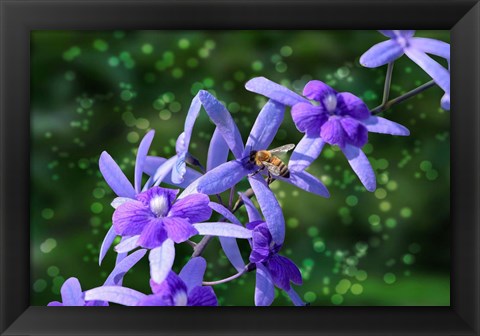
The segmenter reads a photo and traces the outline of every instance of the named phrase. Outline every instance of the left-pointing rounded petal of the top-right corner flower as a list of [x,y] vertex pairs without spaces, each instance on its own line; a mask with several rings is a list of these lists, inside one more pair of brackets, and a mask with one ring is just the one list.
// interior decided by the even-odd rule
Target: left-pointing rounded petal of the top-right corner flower
[[368,49],[360,57],[360,64],[367,68],[376,68],[393,62],[402,55],[402,46],[395,40],[388,40],[375,44]]

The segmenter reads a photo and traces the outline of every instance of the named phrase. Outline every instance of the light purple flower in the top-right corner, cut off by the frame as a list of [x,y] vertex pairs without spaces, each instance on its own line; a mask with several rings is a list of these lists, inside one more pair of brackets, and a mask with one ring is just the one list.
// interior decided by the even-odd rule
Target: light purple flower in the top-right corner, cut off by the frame
[[414,30],[379,30],[390,40],[380,42],[360,57],[360,64],[368,68],[376,68],[391,63],[403,54],[418,64],[437,85],[448,95],[442,99],[442,107],[449,107],[450,72],[437,61],[428,56],[432,54],[443,57],[450,63],[450,45],[431,38],[413,37]]

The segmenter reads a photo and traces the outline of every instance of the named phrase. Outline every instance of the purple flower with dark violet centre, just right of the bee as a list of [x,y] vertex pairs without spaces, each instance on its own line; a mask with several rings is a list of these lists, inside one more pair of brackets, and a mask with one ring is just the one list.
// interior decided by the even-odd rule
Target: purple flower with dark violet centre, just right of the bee
[[318,158],[325,143],[337,145],[368,191],[376,188],[372,166],[360,149],[367,142],[368,132],[410,134],[402,125],[372,116],[360,98],[349,92],[338,93],[318,80],[308,82],[303,89],[308,99],[264,77],[251,79],[245,87],[292,106],[293,121],[305,136],[292,153],[290,167],[304,169]]

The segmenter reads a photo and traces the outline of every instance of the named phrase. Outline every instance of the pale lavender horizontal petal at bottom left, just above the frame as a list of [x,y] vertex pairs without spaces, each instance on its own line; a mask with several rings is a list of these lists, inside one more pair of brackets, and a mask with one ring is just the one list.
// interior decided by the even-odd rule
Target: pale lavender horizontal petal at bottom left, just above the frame
[[120,286],[102,286],[85,292],[85,300],[99,300],[117,303],[124,306],[135,306],[147,296],[136,290]]

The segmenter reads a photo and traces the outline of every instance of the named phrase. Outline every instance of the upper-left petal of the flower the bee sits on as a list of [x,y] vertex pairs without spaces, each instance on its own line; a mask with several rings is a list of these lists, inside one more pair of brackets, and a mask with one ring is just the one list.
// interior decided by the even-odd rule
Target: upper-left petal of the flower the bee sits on
[[244,150],[243,140],[230,112],[207,91],[200,91],[199,98],[208,116],[222,133],[233,155],[236,158],[241,158]]

